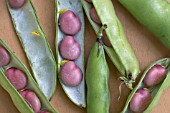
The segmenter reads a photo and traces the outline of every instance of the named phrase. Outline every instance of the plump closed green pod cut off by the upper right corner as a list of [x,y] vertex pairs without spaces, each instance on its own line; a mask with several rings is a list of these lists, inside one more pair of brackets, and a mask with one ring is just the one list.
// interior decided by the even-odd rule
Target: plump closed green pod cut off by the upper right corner
[[170,49],[170,2],[168,0],[119,0],[119,2]]

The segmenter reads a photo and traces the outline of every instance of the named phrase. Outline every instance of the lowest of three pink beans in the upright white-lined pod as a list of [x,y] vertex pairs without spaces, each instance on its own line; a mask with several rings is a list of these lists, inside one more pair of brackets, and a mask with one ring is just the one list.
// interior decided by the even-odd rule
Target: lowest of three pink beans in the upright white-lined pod
[[60,78],[68,86],[77,86],[82,80],[82,72],[73,61],[68,61],[61,67]]

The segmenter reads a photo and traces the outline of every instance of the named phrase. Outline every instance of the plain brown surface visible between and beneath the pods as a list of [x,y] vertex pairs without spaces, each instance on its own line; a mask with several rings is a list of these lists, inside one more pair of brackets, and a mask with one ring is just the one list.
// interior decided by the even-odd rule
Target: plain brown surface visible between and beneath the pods
[[[55,55],[55,3],[54,0],[32,0],[37,11],[40,23],[44,29],[48,41]],[[116,13],[122,22],[126,36],[131,44],[135,54],[139,60],[141,73],[153,61],[170,56],[169,51],[145,28],[143,28],[117,0],[113,0]],[[88,54],[93,42],[96,39],[94,31],[85,18],[85,62],[87,62]],[[5,4],[5,0],[0,0],[0,38],[2,38],[21,61],[30,69],[28,61],[22,50],[20,42],[14,31],[10,15]],[[114,65],[107,58],[110,68],[109,88],[111,94],[110,113],[119,113],[126,102],[129,90],[123,86],[122,97],[120,102],[118,98],[118,86],[120,84],[119,73]],[[132,62],[133,63],[133,62]],[[85,63],[86,64],[86,63]],[[139,77],[141,74],[139,75]],[[139,77],[137,80],[139,80]],[[169,113],[170,111],[170,87],[165,90],[158,101],[157,106],[152,113]],[[61,85],[57,84],[56,93],[51,104],[60,113],[86,113],[86,109],[82,109],[74,105],[63,92]],[[0,86],[0,113],[19,113],[13,105],[8,93]]]

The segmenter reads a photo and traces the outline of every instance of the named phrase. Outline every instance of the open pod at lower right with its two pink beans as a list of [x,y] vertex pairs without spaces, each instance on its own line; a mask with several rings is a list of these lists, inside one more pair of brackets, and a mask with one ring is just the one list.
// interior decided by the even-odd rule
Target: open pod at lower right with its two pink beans
[[138,85],[130,93],[122,113],[150,113],[161,93],[169,85],[170,59],[151,64],[143,73]]

